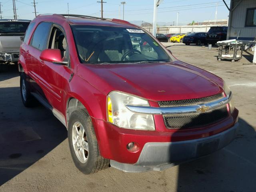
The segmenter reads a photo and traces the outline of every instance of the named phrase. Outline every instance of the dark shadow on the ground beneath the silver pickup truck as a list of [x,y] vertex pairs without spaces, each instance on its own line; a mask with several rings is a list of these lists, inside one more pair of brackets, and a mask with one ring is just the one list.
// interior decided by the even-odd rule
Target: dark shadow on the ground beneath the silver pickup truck
[[19,75],[20,74],[16,64],[0,64],[0,82],[10,78],[18,77]]

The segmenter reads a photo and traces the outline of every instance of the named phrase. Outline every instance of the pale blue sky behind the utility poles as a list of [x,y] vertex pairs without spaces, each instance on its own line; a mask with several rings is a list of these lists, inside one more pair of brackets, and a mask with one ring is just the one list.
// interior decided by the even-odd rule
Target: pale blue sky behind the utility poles
[[[69,4],[70,14],[82,14],[100,17],[100,0],[35,0],[36,12],[38,14],[59,13],[66,14]],[[123,16],[122,0],[104,0],[103,16],[105,18],[120,18]],[[10,19],[13,17],[12,0],[2,0],[2,18]],[[18,19],[30,19],[35,17],[33,0],[16,0]],[[154,0],[125,0],[124,20],[140,20],[153,22]],[[230,0],[226,0],[228,6]],[[214,20],[217,8],[217,19],[228,19],[228,9],[222,0],[163,0],[158,6],[158,22],[175,22],[178,16],[178,24],[188,24],[193,20],[202,22],[204,20]]]

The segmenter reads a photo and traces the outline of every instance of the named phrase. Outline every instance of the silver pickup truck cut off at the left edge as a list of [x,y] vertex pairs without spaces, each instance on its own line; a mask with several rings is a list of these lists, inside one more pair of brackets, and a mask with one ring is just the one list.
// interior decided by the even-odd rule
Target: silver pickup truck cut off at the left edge
[[20,54],[20,44],[30,24],[30,20],[0,20],[0,62],[16,63]]

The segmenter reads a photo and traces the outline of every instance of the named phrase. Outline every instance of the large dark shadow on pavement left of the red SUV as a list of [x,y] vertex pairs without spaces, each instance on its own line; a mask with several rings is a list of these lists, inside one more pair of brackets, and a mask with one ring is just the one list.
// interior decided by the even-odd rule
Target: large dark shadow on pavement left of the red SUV
[[66,128],[43,106],[25,108],[20,88],[0,88],[0,186],[67,138]]

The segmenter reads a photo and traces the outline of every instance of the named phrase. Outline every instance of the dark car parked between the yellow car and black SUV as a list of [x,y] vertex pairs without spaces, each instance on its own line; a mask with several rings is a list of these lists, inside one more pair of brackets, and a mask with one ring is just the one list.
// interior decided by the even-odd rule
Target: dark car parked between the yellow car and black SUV
[[198,32],[198,33],[190,33],[183,38],[183,43],[186,45],[189,44],[206,44],[206,33]]

